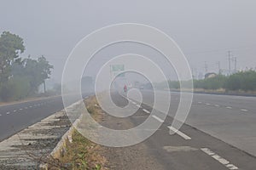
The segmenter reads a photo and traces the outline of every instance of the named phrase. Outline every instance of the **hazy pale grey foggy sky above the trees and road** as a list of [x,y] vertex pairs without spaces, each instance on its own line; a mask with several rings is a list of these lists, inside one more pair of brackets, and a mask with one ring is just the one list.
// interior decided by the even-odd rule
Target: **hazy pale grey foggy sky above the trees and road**
[[22,56],[44,54],[55,65],[56,81],[77,42],[102,26],[124,22],[165,31],[197,72],[205,72],[205,62],[208,71],[218,71],[218,61],[227,69],[228,50],[237,57],[238,68],[256,67],[254,0],[1,0],[0,5],[0,31],[24,38]]

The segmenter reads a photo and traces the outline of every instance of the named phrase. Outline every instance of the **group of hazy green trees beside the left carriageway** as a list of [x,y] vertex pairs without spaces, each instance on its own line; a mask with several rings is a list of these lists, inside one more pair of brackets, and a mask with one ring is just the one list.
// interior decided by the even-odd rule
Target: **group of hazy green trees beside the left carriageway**
[[23,99],[38,93],[38,87],[49,78],[53,65],[44,56],[21,58],[23,39],[9,31],[0,36],[0,100]]

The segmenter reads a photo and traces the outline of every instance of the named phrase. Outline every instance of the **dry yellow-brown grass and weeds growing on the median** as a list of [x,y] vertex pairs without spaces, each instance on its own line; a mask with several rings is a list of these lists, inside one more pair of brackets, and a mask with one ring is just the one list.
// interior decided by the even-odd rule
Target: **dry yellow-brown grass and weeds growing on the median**
[[[97,121],[101,121],[102,116],[95,97],[84,101],[90,115]],[[73,132],[73,143],[67,143],[67,148],[63,156],[58,158],[62,168],[51,167],[49,169],[72,169],[72,170],[106,170],[106,159],[102,156],[102,146],[90,142],[77,130]]]

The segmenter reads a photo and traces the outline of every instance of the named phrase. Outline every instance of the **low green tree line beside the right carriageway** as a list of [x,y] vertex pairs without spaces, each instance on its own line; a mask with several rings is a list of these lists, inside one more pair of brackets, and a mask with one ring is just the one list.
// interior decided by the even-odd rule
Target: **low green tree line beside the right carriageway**
[[[186,83],[191,82],[184,81]],[[161,84],[156,84],[157,88],[161,88]],[[168,81],[169,88],[179,89],[180,83],[178,81]],[[217,75],[216,77],[209,77],[202,80],[193,80],[194,88],[217,90],[223,88],[225,91],[256,91],[256,71],[239,71],[230,76]],[[188,86],[189,87],[189,86]]]

